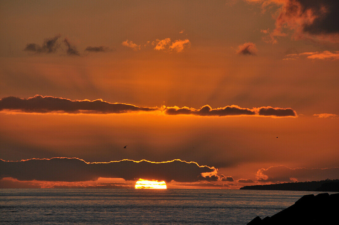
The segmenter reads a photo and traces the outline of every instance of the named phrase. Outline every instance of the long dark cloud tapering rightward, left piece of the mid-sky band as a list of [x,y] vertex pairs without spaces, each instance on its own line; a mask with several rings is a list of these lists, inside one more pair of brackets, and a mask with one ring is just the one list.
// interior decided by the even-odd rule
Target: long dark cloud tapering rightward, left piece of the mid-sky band
[[154,111],[157,108],[137,107],[123,103],[108,103],[97,100],[70,100],[52,96],[35,95],[27,99],[18,97],[4,97],[0,99],[0,111],[12,110],[35,113],[126,113],[137,111]]

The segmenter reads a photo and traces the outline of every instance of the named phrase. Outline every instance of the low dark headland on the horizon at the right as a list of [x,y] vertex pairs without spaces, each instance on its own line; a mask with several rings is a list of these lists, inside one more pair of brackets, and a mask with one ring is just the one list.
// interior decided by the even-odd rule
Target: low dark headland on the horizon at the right
[[309,182],[291,182],[281,184],[265,184],[244,186],[241,190],[301,190],[301,191],[317,191],[317,192],[339,192],[339,179],[321,180]]

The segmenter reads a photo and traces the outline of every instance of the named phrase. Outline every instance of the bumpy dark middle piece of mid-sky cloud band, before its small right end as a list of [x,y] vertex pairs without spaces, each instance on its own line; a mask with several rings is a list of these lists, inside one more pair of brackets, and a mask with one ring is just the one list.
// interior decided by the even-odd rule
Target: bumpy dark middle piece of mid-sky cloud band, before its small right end
[[199,110],[188,107],[167,107],[165,113],[168,115],[178,114],[193,114],[198,116],[233,116],[233,115],[255,115],[254,111],[247,108],[241,108],[239,106],[226,106],[223,108],[212,109],[211,106],[206,105]]

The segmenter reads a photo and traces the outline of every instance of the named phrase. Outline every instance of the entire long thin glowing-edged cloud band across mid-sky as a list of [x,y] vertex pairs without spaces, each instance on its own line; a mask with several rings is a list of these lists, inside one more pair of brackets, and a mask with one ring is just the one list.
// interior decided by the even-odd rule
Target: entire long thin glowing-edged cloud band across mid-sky
[[270,106],[260,108],[241,108],[236,105],[223,108],[212,109],[205,105],[200,109],[177,106],[174,107],[138,107],[124,103],[109,103],[102,99],[90,100],[70,100],[52,96],[35,95],[34,97],[23,99],[18,97],[4,97],[0,99],[0,111],[11,110],[26,113],[127,113],[138,111],[163,111],[167,115],[190,114],[198,116],[235,116],[235,115],[261,115],[261,116],[297,116],[291,108],[273,108]]

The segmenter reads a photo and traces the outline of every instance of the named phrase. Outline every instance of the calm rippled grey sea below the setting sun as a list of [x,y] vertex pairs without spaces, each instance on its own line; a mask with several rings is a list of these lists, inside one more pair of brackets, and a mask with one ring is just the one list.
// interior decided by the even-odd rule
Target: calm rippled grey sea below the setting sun
[[318,192],[0,189],[1,224],[246,224]]

